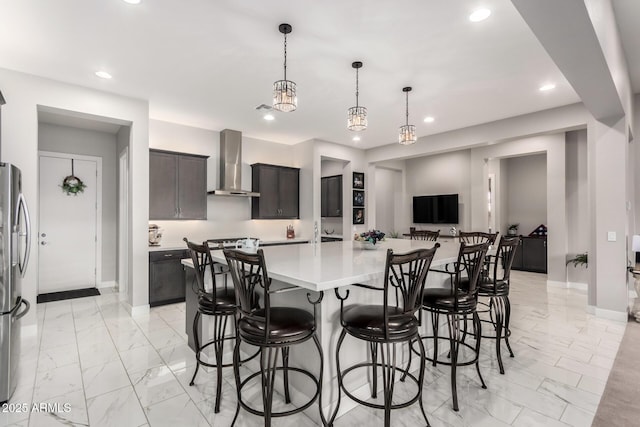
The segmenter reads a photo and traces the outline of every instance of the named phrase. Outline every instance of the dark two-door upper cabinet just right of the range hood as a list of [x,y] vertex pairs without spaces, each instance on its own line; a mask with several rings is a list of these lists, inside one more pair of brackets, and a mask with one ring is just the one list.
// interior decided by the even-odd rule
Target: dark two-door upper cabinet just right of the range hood
[[251,165],[251,219],[300,218],[300,169],[255,163]]

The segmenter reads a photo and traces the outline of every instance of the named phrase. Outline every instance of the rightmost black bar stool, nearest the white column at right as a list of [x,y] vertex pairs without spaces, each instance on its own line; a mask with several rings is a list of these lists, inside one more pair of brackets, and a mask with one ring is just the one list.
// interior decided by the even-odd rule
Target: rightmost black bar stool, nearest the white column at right
[[[509,349],[509,355],[514,357],[511,345],[509,344],[509,319],[511,318],[511,303],[509,302],[509,277],[511,275],[511,265],[516,254],[516,249],[520,244],[518,236],[502,236],[498,244],[498,251],[495,256],[487,257],[491,261],[493,271],[488,277],[484,277],[478,282],[478,295],[488,297],[489,304],[481,303],[488,307],[490,320],[482,320],[491,323],[495,329],[495,335],[483,335],[483,338],[496,340],[496,357],[500,373],[504,374],[502,364],[501,341],[504,339]],[[498,261],[502,263],[502,271],[498,269]],[[500,274],[502,273],[502,274]],[[481,310],[478,310],[482,312]]]

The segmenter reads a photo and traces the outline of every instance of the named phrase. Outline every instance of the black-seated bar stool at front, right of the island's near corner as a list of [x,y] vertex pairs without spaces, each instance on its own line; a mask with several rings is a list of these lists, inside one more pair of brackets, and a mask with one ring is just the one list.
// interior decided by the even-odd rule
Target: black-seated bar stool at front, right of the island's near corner
[[[405,408],[412,405],[416,400],[420,404],[422,416],[429,426],[429,420],[424,411],[422,403],[422,384],[424,382],[425,351],[422,341],[419,339],[419,322],[415,317],[416,311],[420,309],[422,292],[424,289],[427,272],[438,243],[431,249],[418,249],[406,254],[394,254],[392,249],[387,251],[385,267],[384,286],[379,288],[370,285],[355,284],[353,286],[382,291],[382,304],[361,305],[353,304],[345,307],[344,301],[349,297],[349,290],[341,297],[338,289],[335,289],[336,297],[340,300],[340,323],[342,332],[338,338],[336,346],[336,369],[338,371],[338,403],[335,412],[331,416],[329,425],[333,421],[340,409],[341,393],[344,393],[352,400],[361,405],[383,409],[384,425],[391,425],[391,410]],[[395,292],[395,306],[389,301],[389,294]],[[346,335],[366,341],[369,344],[372,360],[371,362],[357,363],[346,369],[340,367],[340,349]],[[417,341],[420,347],[420,371],[418,378],[410,374],[409,365],[406,370],[396,365],[396,344]],[[378,347],[380,349],[381,362],[378,362]],[[409,352],[411,359],[411,352]],[[410,362],[410,360],[409,360]],[[371,403],[355,397],[344,385],[344,377],[350,372],[361,372],[369,367],[373,370],[373,391],[372,397],[376,397],[377,391],[377,368],[382,370],[384,404]],[[414,396],[401,403],[393,402],[393,390],[395,385],[396,372],[402,372],[401,381],[406,377],[410,378],[417,385],[417,392]],[[358,375],[357,373],[355,375]]]

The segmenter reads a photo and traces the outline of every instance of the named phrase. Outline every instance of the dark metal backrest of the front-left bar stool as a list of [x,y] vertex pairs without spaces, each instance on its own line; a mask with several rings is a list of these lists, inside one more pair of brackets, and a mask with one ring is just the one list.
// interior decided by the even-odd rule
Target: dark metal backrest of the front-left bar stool
[[[252,319],[264,321],[265,340],[269,337],[270,329],[270,298],[269,287],[271,279],[267,274],[264,262],[264,253],[258,249],[255,253],[243,252],[238,249],[225,249],[224,256],[231,273],[233,286],[236,292],[238,309],[242,316],[251,316]],[[258,290],[264,293],[264,316],[258,316],[255,312],[259,309],[256,302],[260,295]]]

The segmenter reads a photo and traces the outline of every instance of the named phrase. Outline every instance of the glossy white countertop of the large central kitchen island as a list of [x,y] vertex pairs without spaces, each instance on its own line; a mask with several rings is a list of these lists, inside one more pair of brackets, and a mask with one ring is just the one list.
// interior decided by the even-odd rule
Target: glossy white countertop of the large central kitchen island
[[[387,239],[378,243],[379,249],[354,247],[352,240],[322,244],[269,246],[264,248],[269,277],[312,291],[324,291],[353,283],[377,280],[384,274],[387,249],[409,252],[431,248],[435,242],[424,240]],[[432,266],[457,259],[459,243],[453,240],[438,242]],[[376,246],[378,246],[376,245]],[[226,264],[222,251],[212,252],[213,260]],[[191,266],[191,260],[182,260]]]

